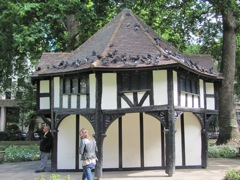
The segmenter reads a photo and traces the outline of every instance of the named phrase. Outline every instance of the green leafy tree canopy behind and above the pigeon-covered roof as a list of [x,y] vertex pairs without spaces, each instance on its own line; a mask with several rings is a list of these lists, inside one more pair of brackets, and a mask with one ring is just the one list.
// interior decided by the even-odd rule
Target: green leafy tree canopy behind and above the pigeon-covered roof
[[[34,101],[29,92],[17,89],[9,78],[28,78],[42,52],[72,51],[105,25],[123,8],[131,9],[163,38],[186,53],[211,54],[222,61],[223,13],[233,11],[239,36],[240,11],[236,0],[2,0],[0,3],[0,93],[21,90],[21,119],[34,119]],[[188,46],[197,43],[200,47]],[[197,46],[198,46],[197,45]],[[239,40],[237,69],[239,69]],[[191,49],[189,49],[191,48]],[[218,63],[221,64],[221,63]],[[240,73],[236,73],[239,82]],[[235,84],[237,95],[240,83]],[[26,84],[27,86],[29,84]],[[26,100],[26,101],[25,101]],[[20,106],[21,107],[21,106]],[[29,111],[24,111],[29,110]]]

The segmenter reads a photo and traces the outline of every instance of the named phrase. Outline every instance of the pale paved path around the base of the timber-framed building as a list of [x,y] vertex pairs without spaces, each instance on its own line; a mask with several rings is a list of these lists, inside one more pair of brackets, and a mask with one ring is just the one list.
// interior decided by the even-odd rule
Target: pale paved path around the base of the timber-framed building
[[[102,180],[223,180],[229,168],[240,169],[240,159],[209,159],[206,169],[176,169],[172,177],[168,177],[164,170],[148,171],[114,171],[103,172]],[[36,174],[39,161],[3,163],[0,164],[0,180],[35,180],[41,175],[49,180],[52,174],[59,174],[62,179],[67,175],[70,180],[81,180],[81,172],[44,172]]]

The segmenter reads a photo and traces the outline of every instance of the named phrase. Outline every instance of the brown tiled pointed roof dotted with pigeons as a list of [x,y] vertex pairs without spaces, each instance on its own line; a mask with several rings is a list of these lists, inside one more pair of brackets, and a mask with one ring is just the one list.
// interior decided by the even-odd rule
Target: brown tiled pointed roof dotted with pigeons
[[180,65],[218,78],[219,73],[209,57],[191,55],[186,58],[135,14],[125,9],[72,53],[44,53],[34,75]]

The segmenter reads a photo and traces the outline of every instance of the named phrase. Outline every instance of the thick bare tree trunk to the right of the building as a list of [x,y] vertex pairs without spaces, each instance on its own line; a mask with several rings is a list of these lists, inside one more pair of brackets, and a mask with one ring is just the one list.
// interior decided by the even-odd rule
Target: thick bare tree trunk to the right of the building
[[217,145],[234,141],[239,135],[235,105],[236,20],[229,9],[223,13],[223,54],[221,73],[224,80],[219,90],[219,137]]

